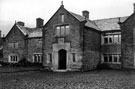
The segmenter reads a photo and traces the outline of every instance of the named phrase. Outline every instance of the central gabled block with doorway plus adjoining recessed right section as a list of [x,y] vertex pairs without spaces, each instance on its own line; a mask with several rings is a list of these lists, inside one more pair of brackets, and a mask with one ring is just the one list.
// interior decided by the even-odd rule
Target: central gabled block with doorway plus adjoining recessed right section
[[100,63],[120,68],[119,20],[127,17],[89,20],[61,5],[43,27],[43,65],[52,70],[92,70]]

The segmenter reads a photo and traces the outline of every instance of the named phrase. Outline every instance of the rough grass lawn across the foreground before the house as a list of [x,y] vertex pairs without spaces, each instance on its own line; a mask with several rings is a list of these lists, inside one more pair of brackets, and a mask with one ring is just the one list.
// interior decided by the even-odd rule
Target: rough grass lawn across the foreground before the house
[[0,73],[0,89],[135,89],[135,72]]

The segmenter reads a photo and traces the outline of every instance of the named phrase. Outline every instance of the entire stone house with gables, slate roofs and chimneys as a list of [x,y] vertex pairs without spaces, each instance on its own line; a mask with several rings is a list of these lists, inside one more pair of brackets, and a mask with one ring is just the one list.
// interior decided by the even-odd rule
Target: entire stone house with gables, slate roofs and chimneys
[[26,58],[53,71],[92,70],[102,63],[134,68],[134,17],[133,13],[92,21],[87,10],[81,16],[62,4],[45,25],[41,18],[36,28],[15,23],[5,38],[4,61]]

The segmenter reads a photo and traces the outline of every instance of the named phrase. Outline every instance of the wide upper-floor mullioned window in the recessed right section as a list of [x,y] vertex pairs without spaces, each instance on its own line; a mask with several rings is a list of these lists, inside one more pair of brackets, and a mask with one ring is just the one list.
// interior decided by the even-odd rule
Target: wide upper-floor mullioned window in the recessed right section
[[113,34],[104,36],[104,44],[121,43],[121,35]]

